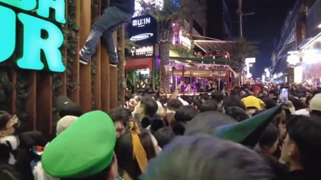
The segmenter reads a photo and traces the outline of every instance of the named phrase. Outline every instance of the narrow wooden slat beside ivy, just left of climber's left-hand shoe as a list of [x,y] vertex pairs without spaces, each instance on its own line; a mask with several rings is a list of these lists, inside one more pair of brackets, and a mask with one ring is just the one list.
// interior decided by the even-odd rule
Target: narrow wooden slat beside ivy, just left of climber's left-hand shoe
[[[81,15],[81,0],[76,0],[76,12],[75,12],[75,21],[78,26],[80,26],[80,15]],[[77,37],[79,39],[79,32],[77,33]],[[76,54],[75,58],[72,64],[72,75],[70,80],[72,82],[76,82],[77,86],[79,85],[79,40],[77,40],[77,47],[76,47]],[[73,100],[76,103],[80,102],[80,96],[79,96],[79,87],[74,88],[71,92],[68,93],[68,96],[70,96],[71,100]]]

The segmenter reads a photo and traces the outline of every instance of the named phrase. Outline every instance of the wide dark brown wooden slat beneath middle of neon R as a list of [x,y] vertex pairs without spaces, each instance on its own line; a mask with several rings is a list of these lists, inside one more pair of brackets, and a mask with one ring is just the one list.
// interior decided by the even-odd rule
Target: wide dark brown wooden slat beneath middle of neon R
[[52,76],[49,72],[37,75],[37,130],[52,135]]

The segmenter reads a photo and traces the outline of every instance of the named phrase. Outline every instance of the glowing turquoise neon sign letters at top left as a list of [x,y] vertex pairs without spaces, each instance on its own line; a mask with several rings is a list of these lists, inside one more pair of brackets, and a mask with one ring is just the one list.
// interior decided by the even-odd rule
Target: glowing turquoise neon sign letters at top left
[[66,23],[65,11],[65,0],[0,0],[0,62],[15,54],[20,68],[65,71],[64,35],[55,24]]

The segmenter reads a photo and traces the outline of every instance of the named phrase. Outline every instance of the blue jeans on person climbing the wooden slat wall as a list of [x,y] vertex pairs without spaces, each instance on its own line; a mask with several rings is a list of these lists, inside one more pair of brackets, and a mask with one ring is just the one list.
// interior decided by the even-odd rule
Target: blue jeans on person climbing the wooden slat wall
[[118,55],[112,33],[121,24],[129,22],[131,17],[132,14],[123,12],[117,7],[106,8],[102,16],[92,25],[89,36],[80,50],[80,56],[89,61],[89,58],[95,53],[100,37],[103,36],[107,44],[110,62],[117,63]]

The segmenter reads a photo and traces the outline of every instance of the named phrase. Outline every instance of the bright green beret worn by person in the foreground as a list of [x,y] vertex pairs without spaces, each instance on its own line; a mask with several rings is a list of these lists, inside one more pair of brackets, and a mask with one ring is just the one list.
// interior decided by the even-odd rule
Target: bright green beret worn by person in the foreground
[[80,116],[46,147],[41,162],[53,177],[84,178],[101,172],[112,161],[116,129],[108,114]]

